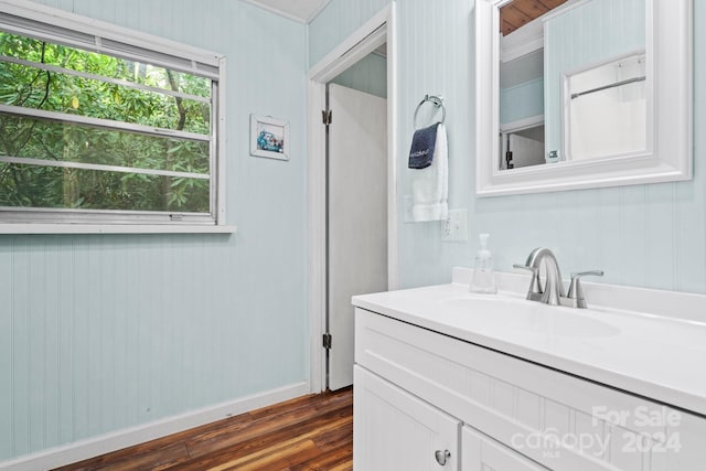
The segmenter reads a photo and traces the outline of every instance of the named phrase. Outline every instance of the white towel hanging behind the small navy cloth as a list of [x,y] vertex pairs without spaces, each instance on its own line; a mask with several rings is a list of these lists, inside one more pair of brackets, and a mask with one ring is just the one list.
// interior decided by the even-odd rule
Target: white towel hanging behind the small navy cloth
[[437,128],[431,165],[411,172],[411,221],[443,221],[449,215],[449,146],[443,124]]

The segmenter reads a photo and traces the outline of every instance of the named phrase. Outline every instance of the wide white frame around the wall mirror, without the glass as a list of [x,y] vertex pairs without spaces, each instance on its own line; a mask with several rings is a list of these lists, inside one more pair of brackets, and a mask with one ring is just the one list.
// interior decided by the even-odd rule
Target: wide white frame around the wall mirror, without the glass
[[648,100],[648,115],[652,116],[654,129],[648,152],[501,171],[498,24],[500,7],[509,1],[475,1],[475,193],[479,196],[692,179],[693,0],[645,0],[646,90],[654,92],[653,99]]

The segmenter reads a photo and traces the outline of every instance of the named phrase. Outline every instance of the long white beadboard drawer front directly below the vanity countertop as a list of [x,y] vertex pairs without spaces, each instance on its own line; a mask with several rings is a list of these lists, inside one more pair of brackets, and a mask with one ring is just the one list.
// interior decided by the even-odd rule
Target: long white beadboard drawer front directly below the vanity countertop
[[702,417],[362,309],[355,362],[550,469],[706,462]]

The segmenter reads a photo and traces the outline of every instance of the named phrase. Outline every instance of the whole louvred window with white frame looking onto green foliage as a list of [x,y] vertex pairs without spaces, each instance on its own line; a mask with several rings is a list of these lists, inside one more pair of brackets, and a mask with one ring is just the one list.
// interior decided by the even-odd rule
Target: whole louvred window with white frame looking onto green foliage
[[0,222],[223,223],[223,56],[0,3]]

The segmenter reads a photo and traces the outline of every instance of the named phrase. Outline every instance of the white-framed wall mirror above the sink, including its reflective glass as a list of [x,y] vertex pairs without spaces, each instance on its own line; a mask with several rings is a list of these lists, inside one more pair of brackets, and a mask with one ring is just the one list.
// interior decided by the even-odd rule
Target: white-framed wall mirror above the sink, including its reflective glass
[[477,194],[692,178],[692,0],[477,0]]

